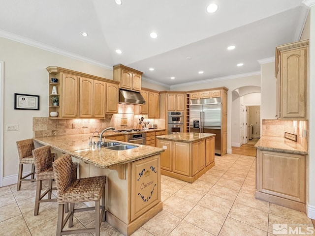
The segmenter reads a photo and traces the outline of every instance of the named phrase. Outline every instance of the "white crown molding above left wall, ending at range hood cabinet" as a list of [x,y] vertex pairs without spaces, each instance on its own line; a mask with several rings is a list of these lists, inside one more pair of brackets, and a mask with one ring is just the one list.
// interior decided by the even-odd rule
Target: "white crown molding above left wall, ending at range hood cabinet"
[[97,65],[97,66],[100,66],[100,67],[103,67],[103,68],[106,68],[106,69],[113,70],[113,67],[111,65],[107,65],[105,63],[102,63],[102,62],[99,62],[99,61],[96,61],[96,60],[92,60],[92,59],[89,59],[89,58],[86,58],[86,57],[82,57],[80,55],[77,55],[77,54],[74,54],[74,53],[70,53],[70,52],[62,50],[60,48],[55,48],[55,47],[49,46],[47,44],[40,43],[40,42],[37,42],[35,40],[29,39],[29,38],[26,38],[26,37],[22,37],[20,35],[17,35],[17,34],[14,34],[14,33],[10,33],[10,32],[4,31],[4,30],[0,30],[0,37],[7,38],[7,39],[10,39],[10,40],[19,42],[19,43],[27,44],[29,46],[32,46],[32,47],[35,47],[35,48],[39,48],[39,49],[42,49],[42,50],[46,50],[46,51],[49,51],[49,52],[52,52],[52,53],[56,53],[56,54],[59,54],[59,55],[62,55],[62,56],[68,57],[68,58],[81,60],[81,61],[84,61],[84,62],[87,62],[87,63],[90,63],[90,64],[94,64],[94,65]]

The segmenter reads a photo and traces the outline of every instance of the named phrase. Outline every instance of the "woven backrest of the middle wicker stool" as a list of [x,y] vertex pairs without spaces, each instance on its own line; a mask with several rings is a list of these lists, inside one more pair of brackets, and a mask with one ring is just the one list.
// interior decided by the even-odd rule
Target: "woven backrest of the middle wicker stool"
[[41,173],[52,167],[53,161],[51,158],[50,146],[46,145],[32,150],[34,158],[35,172]]

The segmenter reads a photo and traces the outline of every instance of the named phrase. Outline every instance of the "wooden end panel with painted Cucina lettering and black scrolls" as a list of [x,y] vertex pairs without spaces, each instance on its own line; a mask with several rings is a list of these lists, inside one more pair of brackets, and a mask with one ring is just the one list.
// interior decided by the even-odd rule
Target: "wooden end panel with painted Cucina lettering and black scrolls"
[[131,162],[131,221],[160,202],[159,155]]

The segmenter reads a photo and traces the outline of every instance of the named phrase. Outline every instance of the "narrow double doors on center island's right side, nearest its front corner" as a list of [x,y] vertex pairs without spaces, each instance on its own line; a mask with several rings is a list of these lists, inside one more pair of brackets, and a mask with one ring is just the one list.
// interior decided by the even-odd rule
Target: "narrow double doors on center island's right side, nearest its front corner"
[[205,168],[205,140],[192,143],[192,175]]

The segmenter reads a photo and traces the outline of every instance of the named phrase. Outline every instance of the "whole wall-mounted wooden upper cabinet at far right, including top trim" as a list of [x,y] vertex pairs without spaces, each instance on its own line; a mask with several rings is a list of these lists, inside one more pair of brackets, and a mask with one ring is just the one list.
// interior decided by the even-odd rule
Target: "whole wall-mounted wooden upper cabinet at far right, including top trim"
[[277,118],[306,119],[309,40],[276,48]]

